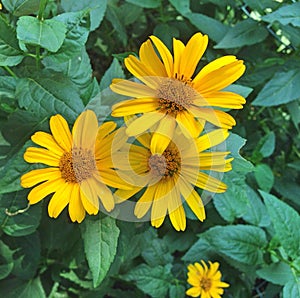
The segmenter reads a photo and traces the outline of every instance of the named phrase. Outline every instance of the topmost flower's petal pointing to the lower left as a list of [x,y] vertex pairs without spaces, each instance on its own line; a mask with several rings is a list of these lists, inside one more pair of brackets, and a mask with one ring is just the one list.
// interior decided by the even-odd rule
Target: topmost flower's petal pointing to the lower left
[[126,133],[128,136],[139,135],[160,121],[164,116],[165,114],[159,112],[144,114],[129,124]]

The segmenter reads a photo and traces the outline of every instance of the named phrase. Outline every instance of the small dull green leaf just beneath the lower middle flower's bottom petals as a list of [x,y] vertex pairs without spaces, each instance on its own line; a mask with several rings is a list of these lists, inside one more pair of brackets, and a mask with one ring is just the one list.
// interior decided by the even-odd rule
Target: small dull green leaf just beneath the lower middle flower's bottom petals
[[154,239],[148,248],[142,251],[142,257],[151,267],[167,265],[173,262],[168,246],[161,239]]

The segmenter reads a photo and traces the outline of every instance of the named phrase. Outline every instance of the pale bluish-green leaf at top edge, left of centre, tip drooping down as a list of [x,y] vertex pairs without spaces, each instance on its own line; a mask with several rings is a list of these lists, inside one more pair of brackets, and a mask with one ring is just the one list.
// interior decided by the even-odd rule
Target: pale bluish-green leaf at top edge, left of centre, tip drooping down
[[61,6],[66,12],[71,11],[83,11],[88,8],[91,16],[91,28],[93,31],[97,29],[105,15],[107,0],[86,0],[86,1],[76,1],[76,0],[62,0]]

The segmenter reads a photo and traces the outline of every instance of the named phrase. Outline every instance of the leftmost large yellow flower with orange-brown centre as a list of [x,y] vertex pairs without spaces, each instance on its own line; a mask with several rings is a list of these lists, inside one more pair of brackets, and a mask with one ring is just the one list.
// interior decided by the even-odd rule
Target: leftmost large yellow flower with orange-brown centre
[[79,115],[71,134],[61,115],[52,116],[52,134],[39,131],[31,137],[43,148],[29,147],[24,154],[29,163],[49,166],[21,177],[23,187],[36,185],[28,194],[29,203],[36,204],[54,193],[48,205],[49,216],[56,218],[69,204],[71,220],[79,223],[86,212],[98,213],[98,198],[104,208],[111,211],[114,199],[106,185],[126,187],[111,168],[110,150],[115,128],[114,122],[106,122],[98,129],[95,113],[87,110]]

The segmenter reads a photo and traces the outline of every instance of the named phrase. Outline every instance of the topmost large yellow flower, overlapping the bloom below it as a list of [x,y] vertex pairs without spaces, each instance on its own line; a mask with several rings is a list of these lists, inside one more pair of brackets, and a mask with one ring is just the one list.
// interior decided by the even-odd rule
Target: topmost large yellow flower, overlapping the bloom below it
[[194,76],[207,44],[208,37],[201,33],[193,35],[186,45],[174,38],[173,57],[157,37],[150,36],[140,48],[139,59],[133,55],[125,59],[127,69],[142,83],[115,79],[110,87],[118,94],[131,97],[115,104],[112,116],[142,114],[128,126],[129,136],[155,127],[157,133],[153,141],[156,142],[161,134],[171,138],[175,126],[197,137],[205,121],[226,129],[235,125],[229,114],[211,107],[242,108],[245,103],[242,96],[221,90],[236,81],[244,73],[245,66],[235,56],[224,56],[210,62]]

